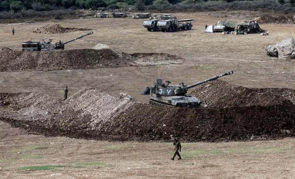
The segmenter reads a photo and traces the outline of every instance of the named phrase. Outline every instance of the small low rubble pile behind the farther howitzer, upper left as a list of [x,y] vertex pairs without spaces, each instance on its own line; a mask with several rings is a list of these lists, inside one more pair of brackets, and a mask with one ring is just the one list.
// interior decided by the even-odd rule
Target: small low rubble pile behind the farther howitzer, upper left
[[64,28],[60,24],[47,24],[45,26],[42,26],[41,28],[37,28],[33,30],[33,32],[42,33],[42,34],[62,34],[62,33],[68,33],[73,31],[88,31],[88,30],[92,30],[92,29],[81,29],[81,28],[70,28],[70,27]]

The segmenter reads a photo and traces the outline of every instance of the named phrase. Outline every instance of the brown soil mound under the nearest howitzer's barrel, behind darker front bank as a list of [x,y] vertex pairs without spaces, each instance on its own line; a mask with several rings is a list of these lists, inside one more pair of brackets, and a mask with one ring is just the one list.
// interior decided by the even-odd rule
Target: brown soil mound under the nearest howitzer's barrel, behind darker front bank
[[192,89],[189,93],[201,99],[204,107],[265,106],[282,100],[295,103],[295,90],[287,88],[246,88],[215,80]]

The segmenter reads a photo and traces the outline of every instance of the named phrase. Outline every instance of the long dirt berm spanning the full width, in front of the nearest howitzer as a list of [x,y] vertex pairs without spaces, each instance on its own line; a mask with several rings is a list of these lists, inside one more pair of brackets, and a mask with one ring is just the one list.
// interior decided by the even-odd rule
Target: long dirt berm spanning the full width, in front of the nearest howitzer
[[33,133],[97,140],[168,141],[171,135],[190,142],[276,139],[295,136],[294,92],[216,80],[192,92],[207,101],[199,109],[153,107],[98,89],[81,90],[65,102],[35,92],[2,93],[0,118]]

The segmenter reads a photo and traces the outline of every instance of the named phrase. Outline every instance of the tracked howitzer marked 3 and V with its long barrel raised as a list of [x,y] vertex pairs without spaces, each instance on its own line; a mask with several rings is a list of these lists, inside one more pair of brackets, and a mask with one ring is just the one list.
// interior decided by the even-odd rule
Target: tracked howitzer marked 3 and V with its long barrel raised
[[150,88],[150,105],[199,108],[202,101],[194,96],[186,95],[187,90],[229,74],[233,74],[233,71],[230,70],[224,74],[188,86],[183,84],[183,82],[172,85],[170,81],[166,81],[166,84],[164,84],[162,79],[157,79],[157,82]]

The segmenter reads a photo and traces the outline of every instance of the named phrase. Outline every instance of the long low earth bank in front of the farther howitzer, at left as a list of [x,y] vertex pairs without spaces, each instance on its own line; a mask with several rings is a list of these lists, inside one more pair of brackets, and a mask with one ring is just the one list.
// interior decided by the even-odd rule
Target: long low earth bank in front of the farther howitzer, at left
[[[144,54],[148,58],[148,54]],[[4,48],[0,50],[0,72],[26,70],[62,70],[106,67],[144,66],[163,63],[182,63],[183,59],[175,55],[151,54],[152,61],[137,63],[141,58],[131,54],[118,53],[112,49],[74,49],[40,52],[19,52]]]

